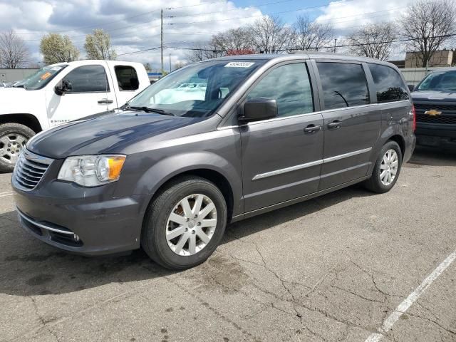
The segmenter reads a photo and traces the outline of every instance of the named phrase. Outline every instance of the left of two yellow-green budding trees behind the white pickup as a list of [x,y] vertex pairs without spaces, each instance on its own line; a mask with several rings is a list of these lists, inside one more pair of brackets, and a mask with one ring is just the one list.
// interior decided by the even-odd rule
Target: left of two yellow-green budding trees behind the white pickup
[[71,62],[79,57],[79,51],[68,36],[49,33],[41,38],[40,52],[46,64]]

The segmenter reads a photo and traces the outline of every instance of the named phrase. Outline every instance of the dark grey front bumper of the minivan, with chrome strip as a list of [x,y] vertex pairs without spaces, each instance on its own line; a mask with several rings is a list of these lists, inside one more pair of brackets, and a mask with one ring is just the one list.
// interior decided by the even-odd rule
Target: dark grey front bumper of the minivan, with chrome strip
[[[76,188],[63,185],[69,190]],[[46,244],[84,255],[140,247],[143,196],[113,198],[100,188],[78,187],[79,198],[48,197],[39,195],[39,191],[19,190],[14,181],[13,188],[21,227]]]

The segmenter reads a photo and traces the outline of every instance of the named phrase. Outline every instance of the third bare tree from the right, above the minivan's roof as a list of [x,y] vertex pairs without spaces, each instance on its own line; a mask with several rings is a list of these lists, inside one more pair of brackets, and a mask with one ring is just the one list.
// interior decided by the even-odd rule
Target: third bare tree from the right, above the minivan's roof
[[308,16],[298,16],[293,26],[291,46],[299,50],[318,50],[328,46],[333,38],[331,25],[311,21]]

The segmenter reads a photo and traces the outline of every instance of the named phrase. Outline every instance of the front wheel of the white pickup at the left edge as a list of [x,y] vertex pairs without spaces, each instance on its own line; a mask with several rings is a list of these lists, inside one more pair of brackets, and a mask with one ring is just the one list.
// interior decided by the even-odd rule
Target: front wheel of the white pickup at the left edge
[[33,135],[33,130],[20,123],[0,125],[0,172],[14,170],[19,152]]

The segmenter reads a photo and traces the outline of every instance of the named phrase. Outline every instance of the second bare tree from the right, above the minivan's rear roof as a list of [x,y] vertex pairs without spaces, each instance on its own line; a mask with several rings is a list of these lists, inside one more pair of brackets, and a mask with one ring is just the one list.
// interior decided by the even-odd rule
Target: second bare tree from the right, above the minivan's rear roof
[[361,26],[347,36],[348,52],[385,61],[390,56],[395,31],[391,23]]

